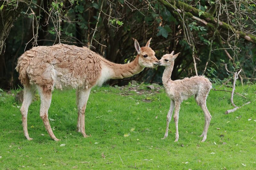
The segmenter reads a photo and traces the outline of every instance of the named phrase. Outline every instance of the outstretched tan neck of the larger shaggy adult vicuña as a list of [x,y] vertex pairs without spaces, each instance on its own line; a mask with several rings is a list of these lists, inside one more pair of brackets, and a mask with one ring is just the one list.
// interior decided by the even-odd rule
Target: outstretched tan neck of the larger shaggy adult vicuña
[[113,74],[110,75],[110,79],[131,77],[135,74],[138,74],[144,69],[144,67],[140,66],[139,64],[138,55],[131,63],[116,64],[116,63],[108,62],[106,63],[106,66],[111,70],[113,70]]

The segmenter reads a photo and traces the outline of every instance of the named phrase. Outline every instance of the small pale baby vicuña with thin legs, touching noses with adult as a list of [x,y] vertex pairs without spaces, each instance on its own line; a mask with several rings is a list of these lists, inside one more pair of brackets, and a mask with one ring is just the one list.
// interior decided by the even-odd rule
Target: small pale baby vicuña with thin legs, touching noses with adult
[[197,104],[203,109],[204,111],[204,130],[200,137],[203,137],[202,142],[206,140],[207,137],[207,130],[211,121],[211,114],[209,113],[206,107],[206,98],[212,88],[212,83],[205,78],[204,76],[194,76],[191,78],[184,78],[182,80],[171,80],[172,69],[174,65],[175,58],[180,54],[173,55],[174,51],[171,54],[164,55],[161,60],[158,61],[158,65],[165,66],[165,70],[163,73],[163,84],[165,87],[165,92],[171,99],[170,109],[167,114],[166,118],[166,130],[164,134],[165,139],[168,136],[168,129],[169,123],[172,118],[173,108],[175,106],[174,111],[174,122],[176,127],[176,137],[175,142],[179,139],[179,132],[178,132],[178,121],[179,121],[179,111],[180,111],[180,104],[183,100],[187,100],[190,96],[195,95],[195,99]]

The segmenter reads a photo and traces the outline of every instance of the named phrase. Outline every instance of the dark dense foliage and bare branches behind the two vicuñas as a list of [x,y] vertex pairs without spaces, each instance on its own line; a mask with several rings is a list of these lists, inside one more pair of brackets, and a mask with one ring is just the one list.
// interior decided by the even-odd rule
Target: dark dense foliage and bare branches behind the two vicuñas
[[[172,50],[181,52],[173,79],[195,75],[195,60],[198,75],[213,82],[229,78],[224,63],[229,70],[243,69],[242,83],[253,81],[255,4],[252,0],[0,1],[0,87],[19,84],[17,58],[33,46],[59,42],[89,46],[110,61],[127,63],[136,55],[134,39],[143,46],[150,37],[158,59]],[[145,69],[109,83],[122,85],[130,79],[161,83],[163,69]]]

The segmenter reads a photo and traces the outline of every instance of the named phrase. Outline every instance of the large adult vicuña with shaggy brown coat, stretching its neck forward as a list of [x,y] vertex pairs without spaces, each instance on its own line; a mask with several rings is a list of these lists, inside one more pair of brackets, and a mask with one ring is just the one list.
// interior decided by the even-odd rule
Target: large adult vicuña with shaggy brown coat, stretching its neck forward
[[135,40],[134,46],[138,55],[128,64],[112,63],[88,48],[65,44],[38,46],[22,54],[16,70],[24,86],[24,99],[20,111],[25,137],[32,140],[28,135],[27,115],[28,107],[38,89],[41,99],[40,117],[50,137],[55,141],[59,140],[54,136],[48,120],[54,87],[61,90],[76,89],[77,131],[88,137],[84,130],[84,112],[91,88],[102,85],[108,79],[131,77],[145,67],[156,67],[158,60],[155,52],[149,47],[150,40],[141,48]]

